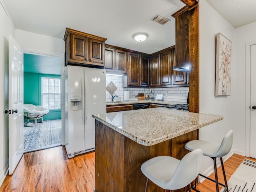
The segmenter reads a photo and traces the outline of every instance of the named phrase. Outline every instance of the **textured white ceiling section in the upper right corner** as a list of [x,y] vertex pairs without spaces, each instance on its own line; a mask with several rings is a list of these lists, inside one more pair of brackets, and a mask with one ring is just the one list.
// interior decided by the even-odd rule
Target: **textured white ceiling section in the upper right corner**
[[206,0],[235,28],[256,21],[256,0]]

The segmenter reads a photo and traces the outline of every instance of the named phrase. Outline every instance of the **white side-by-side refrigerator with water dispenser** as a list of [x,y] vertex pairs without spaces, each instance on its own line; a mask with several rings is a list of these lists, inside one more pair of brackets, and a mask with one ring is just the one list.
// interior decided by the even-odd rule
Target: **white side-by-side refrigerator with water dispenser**
[[69,158],[95,150],[95,119],[106,113],[106,70],[67,67],[65,147]]

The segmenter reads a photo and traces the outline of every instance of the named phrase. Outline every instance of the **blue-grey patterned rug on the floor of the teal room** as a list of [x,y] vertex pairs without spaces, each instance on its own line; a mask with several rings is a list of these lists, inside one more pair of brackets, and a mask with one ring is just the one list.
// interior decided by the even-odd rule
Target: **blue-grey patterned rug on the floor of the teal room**
[[44,120],[44,123],[24,124],[24,152],[61,145],[61,119]]

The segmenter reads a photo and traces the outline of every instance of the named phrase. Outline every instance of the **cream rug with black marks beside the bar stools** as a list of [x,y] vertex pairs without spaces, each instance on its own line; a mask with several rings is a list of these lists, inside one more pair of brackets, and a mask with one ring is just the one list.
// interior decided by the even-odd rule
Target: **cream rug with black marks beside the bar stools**
[[255,183],[256,162],[245,159],[228,180],[228,189],[230,192],[256,192]]

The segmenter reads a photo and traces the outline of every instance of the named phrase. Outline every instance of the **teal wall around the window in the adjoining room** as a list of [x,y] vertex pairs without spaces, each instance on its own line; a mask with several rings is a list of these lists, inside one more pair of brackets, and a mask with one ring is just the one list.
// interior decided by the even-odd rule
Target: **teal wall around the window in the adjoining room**
[[[60,78],[60,75],[48,75],[24,72],[24,104],[41,105],[41,77]],[[44,120],[61,119],[60,110],[50,110]]]

